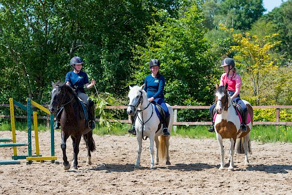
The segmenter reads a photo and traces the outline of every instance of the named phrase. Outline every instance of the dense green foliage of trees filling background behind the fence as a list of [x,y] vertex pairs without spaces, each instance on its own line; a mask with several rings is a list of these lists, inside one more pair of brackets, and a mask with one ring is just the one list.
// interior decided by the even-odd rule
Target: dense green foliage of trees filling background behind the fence
[[[244,67],[253,65],[239,58],[237,40],[255,40],[255,35],[263,40],[277,33],[267,44],[281,43],[266,54],[279,59],[273,64],[280,68],[261,75],[265,87],[273,87],[251,93],[252,81],[243,76],[242,95],[261,105],[291,104],[291,10],[292,0],[265,15],[262,0],[0,0],[0,103],[9,98],[25,103],[28,97],[48,102],[51,81],[63,81],[71,70],[70,59],[80,56],[97,91],[110,93],[122,104],[127,104],[128,85],[142,84],[150,73],[147,62],[156,58],[162,62],[168,103],[210,105],[222,58],[236,57],[242,76]],[[234,39],[219,23],[241,37]],[[205,111],[179,112],[179,120],[208,120]]]

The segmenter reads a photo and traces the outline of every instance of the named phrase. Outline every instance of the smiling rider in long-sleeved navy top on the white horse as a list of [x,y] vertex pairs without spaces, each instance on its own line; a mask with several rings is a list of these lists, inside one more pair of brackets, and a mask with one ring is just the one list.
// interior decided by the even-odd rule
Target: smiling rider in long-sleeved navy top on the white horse
[[[161,105],[161,107],[164,109],[165,112],[165,118],[164,118],[164,128],[163,128],[163,135],[169,136],[168,131],[168,124],[169,124],[169,112],[168,108],[164,102],[164,85],[165,85],[165,79],[164,76],[162,76],[159,73],[160,69],[160,62],[157,59],[151,59],[149,61],[149,69],[151,71],[151,74],[148,75],[145,78],[145,87],[144,90],[147,93],[148,100],[152,103],[157,103]],[[132,124],[134,125],[134,117],[132,118]],[[135,134],[135,127],[133,126],[132,129],[129,129],[128,131],[131,134]]]

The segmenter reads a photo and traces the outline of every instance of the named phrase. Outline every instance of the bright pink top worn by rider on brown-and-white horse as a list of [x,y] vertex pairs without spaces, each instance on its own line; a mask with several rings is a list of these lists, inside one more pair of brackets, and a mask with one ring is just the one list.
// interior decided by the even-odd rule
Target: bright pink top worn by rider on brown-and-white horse
[[238,74],[233,74],[229,79],[227,73],[221,75],[220,79],[220,86],[228,84],[227,90],[228,91],[236,91],[239,92],[241,87],[241,78]]

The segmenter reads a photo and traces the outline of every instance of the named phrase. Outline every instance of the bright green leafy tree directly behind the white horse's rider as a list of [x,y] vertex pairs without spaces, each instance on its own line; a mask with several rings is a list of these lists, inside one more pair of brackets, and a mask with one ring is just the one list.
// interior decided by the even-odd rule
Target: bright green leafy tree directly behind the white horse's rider
[[206,28],[202,25],[201,9],[193,4],[178,19],[169,17],[165,10],[157,10],[156,15],[166,20],[148,26],[150,36],[146,46],[136,51],[137,70],[130,84],[142,84],[150,73],[148,61],[159,59],[166,80],[166,102],[171,105],[211,103],[215,79],[209,43],[203,38]]

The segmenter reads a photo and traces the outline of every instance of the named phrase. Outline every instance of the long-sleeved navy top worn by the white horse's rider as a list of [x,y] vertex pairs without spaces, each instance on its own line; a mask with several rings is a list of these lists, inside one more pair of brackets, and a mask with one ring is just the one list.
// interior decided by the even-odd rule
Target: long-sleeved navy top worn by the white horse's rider
[[158,78],[152,77],[152,75],[148,75],[145,78],[145,87],[144,90],[147,93],[148,98],[163,98],[164,99],[164,85],[165,79],[164,76],[159,75]]

